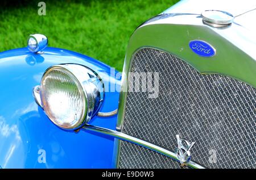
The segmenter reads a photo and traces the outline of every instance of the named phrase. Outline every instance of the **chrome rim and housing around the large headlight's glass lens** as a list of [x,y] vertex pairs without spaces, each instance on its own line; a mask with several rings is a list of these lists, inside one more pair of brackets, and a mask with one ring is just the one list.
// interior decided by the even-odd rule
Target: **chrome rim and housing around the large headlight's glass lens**
[[[65,74],[67,74],[69,77],[71,77],[72,81],[75,82],[77,89],[79,90],[79,93],[82,97],[82,115],[75,123],[74,125],[70,127],[66,127],[65,125],[62,126],[55,122],[55,120],[51,119],[48,112],[46,111],[46,108],[44,108],[43,104],[43,93],[42,93],[42,83],[44,81],[44,78],[47,77],[47,75],[52,72],[52,70],[61,70],[64,71]],[[92,80],[93,79],[93,80]],[[95,81],[97,80],[97,81]],[[97,82],[97,85],[93,82]],[[97,97],[93,90],[100,89],[100,93],[97,93]],[[62,129],[66,130],[76,130],[84,126],[86,123],[90,121],[90,119],[97,114],[97,112],[100,110],[102,106],[102,102],[104,100],[105,96],[105,90],[104,90],[104,83],[100,76],[96,72],[94,72],[92,69],[88,68],[87,66],[80,65],[80,64],[58,64],[53,65],[49,67],[43,74],[40,86],[34,87],[34,98],[36,103],[39,104],[40,107],[43,108],[43,110],[46,112],[46,115],[48,118],[53,122],[57,127],[60,127]],[[100,99],[98,102],[96,102],[95,99]]]

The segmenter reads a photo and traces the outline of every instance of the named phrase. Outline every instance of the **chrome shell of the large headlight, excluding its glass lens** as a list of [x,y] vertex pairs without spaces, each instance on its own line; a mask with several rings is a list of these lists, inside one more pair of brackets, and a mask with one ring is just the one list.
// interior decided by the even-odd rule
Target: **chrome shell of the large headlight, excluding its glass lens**
[[[68,129],[81,128],[82,125],[88,123],[89,120],[100,110],[102,102],[104,100],[104,83],[102,79],[98,76],[98,74],[92,69],[78,64],[53,65],[48,68],[46,72],[44,72],[43,77],[47,76],[48,72],[56,68],[64,69],[68,73],[72,74],[72,76],[75,77],[76,81],[78,81],[80,84],[78,88],[80,89],[80,92],[82,92],[84,95],[83,103],[86,104],[86,109],[84,110],[83,115],[81,116],[79,122],[75,125],[75,127],[71,127]],[[35,86],[33,90],[35,102],[38,103],[40,107],[44,108],[44,105],[42,104],[42,94],[39,94],[40,87]]]

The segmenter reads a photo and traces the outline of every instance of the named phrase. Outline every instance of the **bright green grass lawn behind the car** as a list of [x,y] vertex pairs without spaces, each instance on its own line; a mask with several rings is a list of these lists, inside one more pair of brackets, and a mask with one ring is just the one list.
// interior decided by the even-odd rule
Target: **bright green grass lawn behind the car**
[[122,71],[129,37],[139,24],[177,0],[40,1],[0,3],[0,51],[26,46],[30,34],[44,34],[49,46],[96,58]]

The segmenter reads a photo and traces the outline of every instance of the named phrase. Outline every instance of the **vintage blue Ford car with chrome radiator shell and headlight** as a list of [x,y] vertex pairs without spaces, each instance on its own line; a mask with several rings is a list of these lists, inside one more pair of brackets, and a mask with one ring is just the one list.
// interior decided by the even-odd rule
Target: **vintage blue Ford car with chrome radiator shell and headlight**
[[1,168],[255,168],[255,5],[180,1],[122,74],[42,34],[1,52]]

